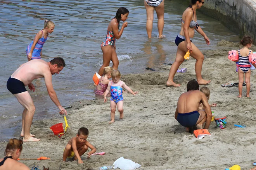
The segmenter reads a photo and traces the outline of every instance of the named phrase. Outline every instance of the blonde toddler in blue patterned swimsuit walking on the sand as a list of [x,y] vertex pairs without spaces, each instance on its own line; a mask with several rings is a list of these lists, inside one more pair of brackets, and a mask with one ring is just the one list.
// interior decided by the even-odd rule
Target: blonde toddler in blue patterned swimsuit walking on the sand
[[125,82],[121,81],[121,73],[118,70],[114,70],[111,73],[112,81],[109,82],[107,86],[107,90],[104,94],[104,102],[107,102],[107,94],[111,93],[111,99],[110,99],[110,117],[111,121],[109,123],[114,123],[115,121],[115,112],[116,112],[116,106],[118,108],[118,112],[120,113],[120,119],[123,119],[123,88],[127,90],[129,93],[136,95],[138,92],[133,92],[130,87],[128,87]]

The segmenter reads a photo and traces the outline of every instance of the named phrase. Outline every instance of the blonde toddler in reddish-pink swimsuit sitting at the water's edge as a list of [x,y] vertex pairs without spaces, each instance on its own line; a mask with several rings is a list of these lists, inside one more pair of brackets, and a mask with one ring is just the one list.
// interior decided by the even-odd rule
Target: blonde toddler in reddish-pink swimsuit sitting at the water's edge
[[114,69],[111,66],[104,67],[103,76],[100,77],[99,84],[96,87],[95,94],[96,95],[104,95],[107,90],[107,85],[110,82],[109,78],[111,78],[111,73]]

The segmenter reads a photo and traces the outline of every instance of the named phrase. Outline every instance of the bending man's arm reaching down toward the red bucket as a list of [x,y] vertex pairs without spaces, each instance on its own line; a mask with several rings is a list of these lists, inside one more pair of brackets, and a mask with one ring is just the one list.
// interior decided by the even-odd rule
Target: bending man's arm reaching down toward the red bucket
[[59,102],[56,92],[54,91],[54,88],[52,86],[52,74],[51,74],[50,70],[44,71],[44,78],[45,78],[45,85],[47,88],[47,92],[48,92],[50,98],[52,99],[54,104],[57,105],[57,107],[61,110],[59,113],[60,114],[65,113],[67,115],[67,111],[61,106],[61,103]]

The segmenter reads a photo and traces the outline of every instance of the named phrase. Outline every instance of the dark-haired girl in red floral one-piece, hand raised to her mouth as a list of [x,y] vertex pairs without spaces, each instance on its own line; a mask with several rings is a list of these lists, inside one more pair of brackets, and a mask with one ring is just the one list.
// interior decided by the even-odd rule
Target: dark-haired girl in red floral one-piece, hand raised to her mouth
[[[118,69],[119,61],[116,55],[116,39],[119,39],[123,34],[125,27],[128,23],[125,20],[128,18],[129,11],[128,9],[121,7],[116,12],[116,16],[110,21],[109,26],[107,27],[107,36],[101,44],[101,50],[103,52],[103,65],[100,67],[99,75],[102,76],[103,68],[109,66],[110,61],[112,61],[114,70]],[[121,30],[119,29],[119,22],[123,21]]]

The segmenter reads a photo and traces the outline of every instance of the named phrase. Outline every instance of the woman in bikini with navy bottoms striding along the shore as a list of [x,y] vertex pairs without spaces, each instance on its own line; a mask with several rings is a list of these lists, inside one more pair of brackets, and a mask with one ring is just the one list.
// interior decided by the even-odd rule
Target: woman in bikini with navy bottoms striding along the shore
[[[167,86],[180,86],[179,84],[176,84],[173,82],[173,77],[178,70],[179,66],[184,61],[184,55],[189,50],[190,56],[192,56],[194,59],[196,59],[195,62],[195,75],[197,78],[197,82],[199,85],[206,85],[208,84],[209,80],[204,80],[202,78],[202,63],[204,61],[204,55],[201,53],[201,51],[195,46],[195,44],[192,43],[192,39],[195,34],[195,30],[201,34],[206,44],[210,44],[209,38],[206,36],[204,31],[202,31],[201,27],[197,24],[197,16],[196,16],[196,10],[201,8],[204,4],[204,0],[191,0],[192,5],[190,5],[182,14],[181,19],[181,30],[180,34],[175,39],[175,43],[178,46],[177,53],[176,53],[176,59],[173,65],[171,65],[170,73],[168,80],[166,82]],[[193,51],[192,51],[193,50]]]

